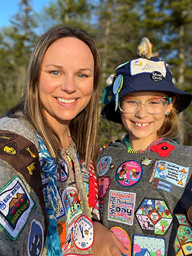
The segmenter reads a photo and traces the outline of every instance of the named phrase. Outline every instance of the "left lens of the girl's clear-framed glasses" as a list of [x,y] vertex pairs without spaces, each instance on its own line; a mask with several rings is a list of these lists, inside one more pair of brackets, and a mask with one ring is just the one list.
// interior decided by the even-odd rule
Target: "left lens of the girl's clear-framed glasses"
[[138,109],[139,102],[132,98],[123,98],[119,100],[119,108],[125,113],[134,113]]

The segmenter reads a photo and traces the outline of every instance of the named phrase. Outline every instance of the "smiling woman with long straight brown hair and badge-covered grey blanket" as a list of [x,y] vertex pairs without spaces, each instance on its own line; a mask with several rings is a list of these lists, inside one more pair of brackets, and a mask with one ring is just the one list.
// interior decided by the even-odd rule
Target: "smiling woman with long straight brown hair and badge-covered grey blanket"
[[22,99],[0,120],[1,255],[92,253],[100,69],[82,29],[36,43]]

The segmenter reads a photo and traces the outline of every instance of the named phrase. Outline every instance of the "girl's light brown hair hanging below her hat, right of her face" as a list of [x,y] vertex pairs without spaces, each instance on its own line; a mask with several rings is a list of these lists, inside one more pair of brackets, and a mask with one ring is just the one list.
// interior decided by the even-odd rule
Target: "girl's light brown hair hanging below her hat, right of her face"
[[[173,95],[169,95],[168,97],[173,97]],[[177,111],[178,98],[179,98],[178,96],[175,96],[175,102],[173,104],[172,111],[168,116],[166,115],[164,117],[163,125],[157,131],[157,135],[159,136],[159,138],[167,137],[173,140],[179,136],[179,128],[180,128],[179,117],[178,117],[179,111]]]

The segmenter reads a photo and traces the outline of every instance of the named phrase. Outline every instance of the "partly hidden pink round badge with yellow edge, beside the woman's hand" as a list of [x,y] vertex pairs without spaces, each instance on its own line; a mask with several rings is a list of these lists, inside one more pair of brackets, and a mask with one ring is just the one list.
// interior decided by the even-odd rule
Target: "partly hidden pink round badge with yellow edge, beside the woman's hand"
[[110,230],[120,240],[120,242],[124,244],[125,248],[129,250],[129,254],[127,254],[127,256],[131,256],[131,241],[129,239],[129,236],[125,232],[125,230],[120,227],[113,227],[113,228],[110,228]]

